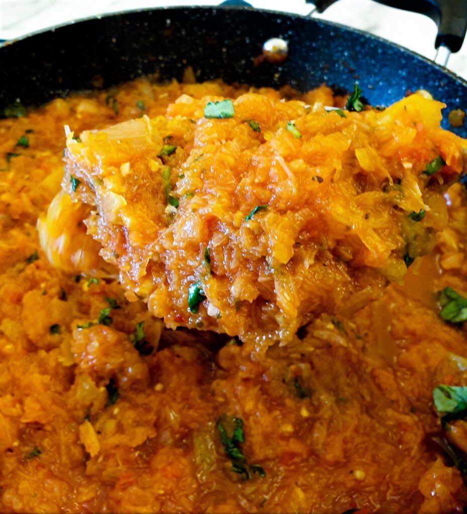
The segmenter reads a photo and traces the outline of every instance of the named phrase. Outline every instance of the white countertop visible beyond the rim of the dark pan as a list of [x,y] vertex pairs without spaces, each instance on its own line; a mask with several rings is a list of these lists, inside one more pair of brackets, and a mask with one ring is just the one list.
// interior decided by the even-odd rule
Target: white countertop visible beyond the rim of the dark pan
[[[0,0],[0,39],[10,40],[70,20],[120,10],[219,3],[220,0]],[[303,15],[312,9],[305,0],[252,0],[251,4]],[[429,59],[435,56],[436,26],[420,14],[392,9],[372,0],[339,0],[316,17],[366,30]],[[447,67],[467,79],[467,44],[451,56]]]

